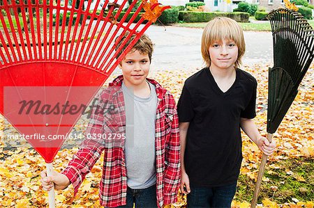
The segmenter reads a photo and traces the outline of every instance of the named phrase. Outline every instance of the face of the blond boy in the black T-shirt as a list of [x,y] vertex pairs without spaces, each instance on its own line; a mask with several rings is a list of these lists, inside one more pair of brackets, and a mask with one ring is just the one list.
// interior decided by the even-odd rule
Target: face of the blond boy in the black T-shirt
[[211,67],[220,70],[230,70],[234,68],[234,63],[238,58],[238,47],[233,40],[217,40],[209,47]]

